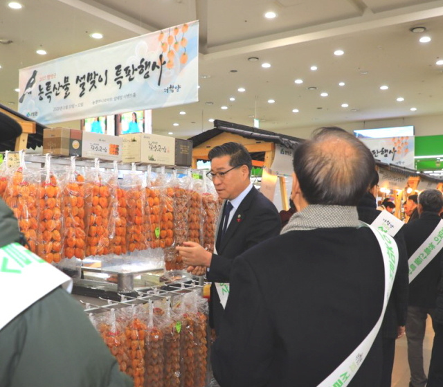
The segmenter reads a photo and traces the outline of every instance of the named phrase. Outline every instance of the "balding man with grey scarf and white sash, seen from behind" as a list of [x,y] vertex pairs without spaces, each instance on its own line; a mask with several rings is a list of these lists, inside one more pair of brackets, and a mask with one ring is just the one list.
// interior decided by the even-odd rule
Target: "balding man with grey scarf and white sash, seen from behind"
[[[377,327],[388,260],[381,234],[363,226],[356,211],[374,157],[352,134],[322,128],[298,146],[293,167],[291,197],[298,212],[282,235],[234,261],[213,345],[215,378],[221,387],[316,387],[329,375],[335,378],[343,361],[374,332],[369,353],[359,348],[345,363],[349,367],[325,385],[379,386]],[[395,242],[383,237],[396,256]],[[387,270],[390,281],[395,264]]]

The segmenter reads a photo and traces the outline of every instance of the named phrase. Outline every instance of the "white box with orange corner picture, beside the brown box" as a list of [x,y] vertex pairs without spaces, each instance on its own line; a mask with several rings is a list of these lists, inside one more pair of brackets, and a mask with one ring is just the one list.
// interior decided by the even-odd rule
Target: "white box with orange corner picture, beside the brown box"
[[122,161],[123,140],[108,134],[83,132],[82,158]]

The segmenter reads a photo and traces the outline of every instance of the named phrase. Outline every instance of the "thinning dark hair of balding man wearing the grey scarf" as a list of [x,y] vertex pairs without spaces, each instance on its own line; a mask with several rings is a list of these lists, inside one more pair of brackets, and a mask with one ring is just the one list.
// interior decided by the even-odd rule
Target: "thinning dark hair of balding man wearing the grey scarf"
[[375,161],[352,134],[322,127],[296,148],[293,170],[309,204],[356,206],[368,190]]

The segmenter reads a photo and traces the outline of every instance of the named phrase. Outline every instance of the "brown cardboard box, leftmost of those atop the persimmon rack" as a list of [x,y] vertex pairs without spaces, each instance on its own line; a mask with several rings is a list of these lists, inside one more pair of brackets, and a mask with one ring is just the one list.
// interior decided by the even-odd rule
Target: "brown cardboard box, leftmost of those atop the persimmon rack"
[[66,127],[43,130],[43,153],[54,156],[82,156],[82,131]]

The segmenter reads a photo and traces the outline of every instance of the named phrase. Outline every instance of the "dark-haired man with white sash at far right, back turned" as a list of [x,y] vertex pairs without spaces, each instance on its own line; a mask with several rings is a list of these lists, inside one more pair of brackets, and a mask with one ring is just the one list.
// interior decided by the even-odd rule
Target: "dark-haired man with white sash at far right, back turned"
[[[408,251],[408,258],[428,239],[442,220],[440,211],[443,208],[443,196],[439,190],[424,190],[418,197],[419,219],[408,222],[403,228],[404,240]],[[438,236],[437,236],[438,238]],[[441,249],[442,243],[437,244],[432,238],[433,251]],[[443,250],[435,258],[427,258],[427,266],[412,278],[413,269],[422,258],[409,262],[409,303],[408,318],[406,319],[406,337],[408,338],[408,362],[410,368],[410,387],[426,386],[426,373],[423,368],[423,339],[426,330],[427,316],[433,317],[435,300],[437,299],[437,285],[440,280],[440,260]],[[415,270],[414,270],[415,271]]]

